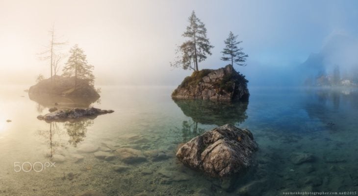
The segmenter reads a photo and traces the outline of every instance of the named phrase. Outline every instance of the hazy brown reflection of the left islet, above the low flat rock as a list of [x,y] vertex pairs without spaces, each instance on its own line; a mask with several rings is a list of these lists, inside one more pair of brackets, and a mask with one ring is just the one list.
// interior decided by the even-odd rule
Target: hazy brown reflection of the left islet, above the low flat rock
[[99,98],[67,98],[62,96],[53,96],[48,94],[28,94],[30,100],[35,101],[41,106],[38,106],[38,110],[42,111],[41,107],[45,108],[88,108],[91,104],[98,102],[100,103],[101,100]]

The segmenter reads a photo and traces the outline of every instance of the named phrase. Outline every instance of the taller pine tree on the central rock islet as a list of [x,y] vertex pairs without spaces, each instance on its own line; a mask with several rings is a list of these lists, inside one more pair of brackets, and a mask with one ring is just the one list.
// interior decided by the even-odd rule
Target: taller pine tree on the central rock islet
[[205,24],[196,17],[194,11],[189,17],[189,22],[189,26],[182,35],[189,40],[178,47],[176,53],[179,60],[171,63],[171,66],[198,71],[198,63],[204,61],[207,54],[211,55],[210,49],[214,46],[210,45],[209,39],[206,38]]

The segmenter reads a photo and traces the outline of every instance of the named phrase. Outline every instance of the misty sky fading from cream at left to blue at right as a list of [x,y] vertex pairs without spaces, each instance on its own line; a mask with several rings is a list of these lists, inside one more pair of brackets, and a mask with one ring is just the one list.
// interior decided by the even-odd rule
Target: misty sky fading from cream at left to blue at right
[[[259,85],[264,70],[290,70],[332,36],[357,39],[358,1],[344,0],[0,0],[0,83],[32,85],[49,63],[38,60],[54,24],[60,41],[82,47],[98,85],[178,85],[191,71],[173,69],[191,11],[215,47],[199,68],[218,68],[230,31]],[[64,61],[65,62],[65,61]],[[63,62],[63,63],[64,63]]]

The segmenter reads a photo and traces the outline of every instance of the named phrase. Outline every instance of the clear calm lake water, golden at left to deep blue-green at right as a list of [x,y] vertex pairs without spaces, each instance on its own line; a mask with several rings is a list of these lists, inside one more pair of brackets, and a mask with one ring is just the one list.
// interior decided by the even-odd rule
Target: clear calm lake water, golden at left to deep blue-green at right
[[[107,196],[274,196],[358,189],[355,88],[250,88],[248,104],[216,104],[173,101],[174,87],[102,87],[101,102],[92,106],[114,113],[50,124],[36,119],[48,108],[31,101],[24,89],[0,87],[0,196],[73,196],[88,190]],[[180,143],[226,123],[248,128],[259,144],[256,165],[230,193],[221,188],[225,182],[185,168],[174,156]],[[102,160],[78,152],[86,145],[110,154],[123,147],[160,150],[166,157],[128,164],[116,156]],[[315,159],[296,165],[294,153]],[[44,164],[57,155],[65,160],[56,167],[14,171],[14,162]],[[115,171],[115,165],[129,168]]]

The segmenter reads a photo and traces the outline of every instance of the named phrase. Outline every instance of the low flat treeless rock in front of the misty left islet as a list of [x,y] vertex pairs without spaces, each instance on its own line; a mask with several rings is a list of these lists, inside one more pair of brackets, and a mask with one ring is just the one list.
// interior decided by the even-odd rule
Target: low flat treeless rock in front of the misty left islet
[[98,115],[112,113],[113,110],[102,110],[97,108],[88,108],[88,109],[60,109],[54,112],[48,113],[46,115],[39,115],[37,118],[39,120],[45,120],[47,122],[53,121],[69,121],[71,119],[78,118],[95,118]]

